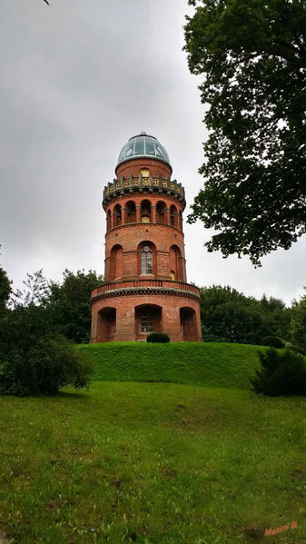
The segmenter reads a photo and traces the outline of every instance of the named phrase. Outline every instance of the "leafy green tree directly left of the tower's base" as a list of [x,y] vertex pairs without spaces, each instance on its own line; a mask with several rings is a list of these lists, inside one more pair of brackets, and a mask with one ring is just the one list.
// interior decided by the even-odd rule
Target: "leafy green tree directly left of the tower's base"
[[67,269],[64,271],[63,277],[64,281],[61,284],[49,283],[48,305],[53,308],[58,330],[69,340],[89,341],[90,295],[95,287],[104,282],[104,278],[91,270],[87,273],[84,270],[74,273]]

